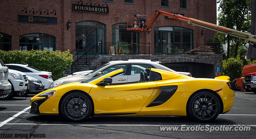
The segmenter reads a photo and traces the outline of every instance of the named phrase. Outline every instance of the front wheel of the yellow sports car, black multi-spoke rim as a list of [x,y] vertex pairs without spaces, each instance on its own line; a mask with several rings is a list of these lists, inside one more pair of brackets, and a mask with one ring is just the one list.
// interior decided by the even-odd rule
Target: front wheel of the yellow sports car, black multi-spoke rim
[[60,103],[60,116],[68,121],[85,121],[93,112],[90,98],[82,92],[72,92]]

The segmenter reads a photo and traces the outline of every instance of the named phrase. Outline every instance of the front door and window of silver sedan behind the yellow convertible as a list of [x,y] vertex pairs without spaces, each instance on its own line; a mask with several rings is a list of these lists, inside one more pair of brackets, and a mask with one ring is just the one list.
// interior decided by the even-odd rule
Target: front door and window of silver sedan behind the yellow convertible
[[128,79],[128,63],[124,63],[124,64],[116,64],[116,65],[112,65],[110,67],[107,67],[106,69],[100,71],[103,73],[106,73],[110,70],[113,70],[113,69],[116,69],[116,68],[123,68],[124,69],[124,73],[122,74],[119,74],[117,76],[114,76],[112,79],[112,83],[122,83],[122,82],[127,82],[127,79]]

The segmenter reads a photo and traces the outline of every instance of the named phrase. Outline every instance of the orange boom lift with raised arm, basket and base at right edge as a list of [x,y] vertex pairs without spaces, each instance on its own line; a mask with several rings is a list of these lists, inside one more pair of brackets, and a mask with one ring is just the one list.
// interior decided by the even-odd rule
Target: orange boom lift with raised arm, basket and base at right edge
[[[160,10],[156,10],[153,16],[146,22],[146,16],[141,16],[139,14],[135,15],[135,17],[128,17],[127,18],[127,30],[129,31],[151,31],[151,27],[156,21],[156,19],[160,16],[167,16],[169,18],[173,18],[175,20],[180,20],[182,22],[187,22],[194,26],[200,26],[207,29],[211,29],[214,31],[218,31],[221,33],[229,34],[234,37],[238,37],[244,39],[245,43],[250,43],[253,47],[256,47],[256,36],[248,33],[244,33],[241,31],[237,31],[234,29],[230,29],[227,27],[222,27],[220,25],[215,25],[212,23],[196,20],[193,18],[187,18],[178,14],[172,14]],[[237,78],[232,81],[232,89],[233,90],[241,90],[249,91],[248,89],[252,90],[256,93],[256,63],[251,65],[245,65],[244,69],[242,70],[243,76],[245,78]]]

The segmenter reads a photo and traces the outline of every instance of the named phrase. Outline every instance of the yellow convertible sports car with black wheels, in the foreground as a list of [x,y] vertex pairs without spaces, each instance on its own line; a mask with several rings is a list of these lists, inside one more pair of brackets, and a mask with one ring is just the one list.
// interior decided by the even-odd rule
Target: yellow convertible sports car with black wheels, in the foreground
[[124,73],[110,70],[85,82],[64,84],[31,98],[30,113],[60,115],[70,121],[90,116],[188,116],[212,121],[234,103],[229,77],[193,78],[160,69],[146,69],[139,82],[112,84]]

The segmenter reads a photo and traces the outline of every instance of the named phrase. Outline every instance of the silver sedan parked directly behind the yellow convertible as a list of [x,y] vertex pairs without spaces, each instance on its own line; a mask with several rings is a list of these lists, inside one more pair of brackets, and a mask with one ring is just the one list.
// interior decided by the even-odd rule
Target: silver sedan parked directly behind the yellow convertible
[[130,59],[128,61],[110,61],[106,63],[105,65],[102,65],[96,69],[94,69],[92,72],[89,72],[86,75],[76,75],[76,76],[68,76],[63,77],[58,80],[55,80],[50,85],[50,88],[54,88],[56,86],[60,86],[63,84],[67,84],[70,82],[82,82],[89,80],[90,78],[93,78],[99,74],[106,73],[112,69],[116,68],[123,68],[125,70],[125,73],[120,74],[118,76],[115,76],[113,78],[113,83],[120,83],[120,82],[136,82],[140,80],[140,72],[144,72],[145,69],[155,68],[155,69],[162,69],[167,70],[187,76],[191,76],[189,72],[177,72],[175,70],[172,70],[168,67],[165,67],[158,61],[151,61],[151,60],[145,60],[145,59]]

